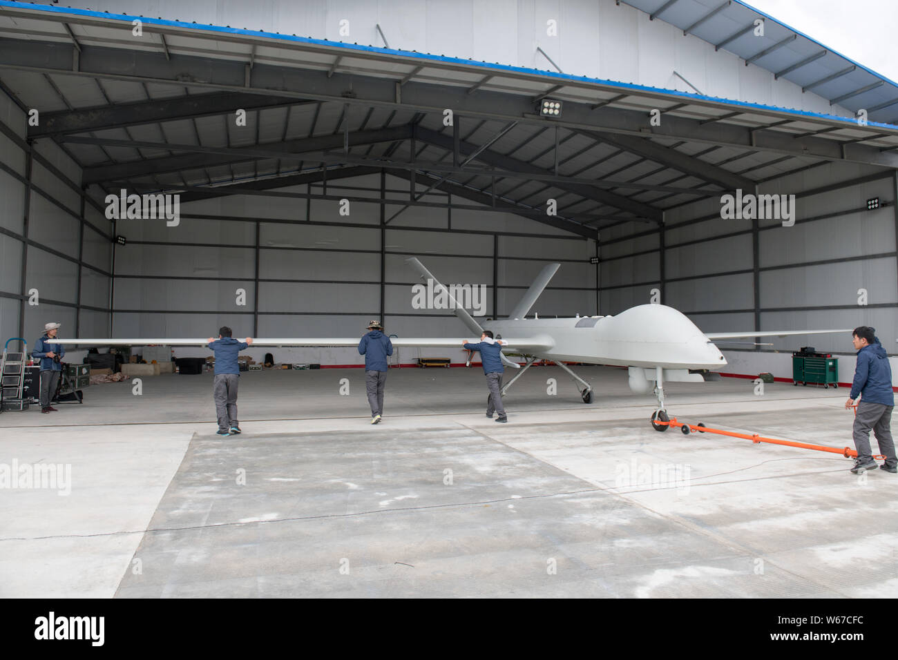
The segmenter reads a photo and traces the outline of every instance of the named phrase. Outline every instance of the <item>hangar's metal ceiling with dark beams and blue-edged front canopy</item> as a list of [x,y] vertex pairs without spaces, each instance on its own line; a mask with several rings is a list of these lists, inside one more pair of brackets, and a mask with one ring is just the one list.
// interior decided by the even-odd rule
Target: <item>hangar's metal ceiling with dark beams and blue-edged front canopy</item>
[[[299,195],[271,189],[385,171],[440,193],[392,190],[392,205],[449,194],[594,236],[821,164],[898,168],[898,127],[875,121],[145,17],[136,40],[136,18],[0,0],[0,86],[40,109],[29,137],[65,148],[98,198]],[[565,101],[558,119],[537,114],[547,95]]]

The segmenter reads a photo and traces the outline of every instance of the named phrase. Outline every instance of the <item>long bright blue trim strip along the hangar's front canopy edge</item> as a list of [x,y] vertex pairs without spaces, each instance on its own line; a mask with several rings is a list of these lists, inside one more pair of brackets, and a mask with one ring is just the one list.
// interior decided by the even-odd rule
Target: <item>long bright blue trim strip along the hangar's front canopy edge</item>
[[[736,0],[739,4],[743,4],[740,0]],[[756,9],[750,7],[748,5],[744,5],[748,9],[751,9],[754,12],[757,12]],[[460,64],[465,66],[476,66],[489,71],[508,71],[511,73],[517,74],[527,74],[527,75],[541,75],[544,77],[554,78],[559,81],[577,81],[579,83],[594,83],[594,84],[602,84],[610,87],[615,87],[621,90],[632,90],[633,92],[650,92],[655,94],[661,94],[665,96],[670,96],[676,99],[683,100],[700,100],[700,101],[713,101],[717,103],[726,103],[726,105],[736,106],[740,108],[753,109],[753,110],[766,110],[766,111],[774,111],[774,112],[786,112],[791,115],[796,115],[797,117],[806,117],[813,119],[827,119],[831,121],[839,121],[844,124],[856,125],[857,121],[850,117],[841,117],[838,115],[830,115],[819,112],[811,112],[809,110],[797,110],[795,108],[780,108],[778,106],[765,105],[762,103],[751,103],[748,101],[735,101],[734,99],[724,99],[718,96],[705,96],[703,94],[693,94],[691,92],[680,92],[679,90],[668,90],[661,87],[650,87],[647,85],[641,84],[632,84],[632,83],[621,83],[619,81],[613,80],[603,80],[602,78],[591,78],[585,75],[570,75],[570,74],[562,74],[556,71],[548,71],[541,69],[533,69],[527,68],[524,66],[512,66],[512,65],[500,65],[500,64],[489,64],[489,62],[480,62],[474,59],[464,59],[462,57],[446,57],[445,55],[432,55],[429,53],[418,53],[417,51],[411,50],[397,50],[395,48],[379,48],[376,46],[362,46],[359,44],[348,44],[343,41],[330,41],[330,40],[321,40],[321,39],[312,39],[311,37],[296,37],[292,34],[279,34],[277,32],[266,32],[259,30],[244,30],[242,28],[230,28],[221,25],[209,25],[205,23],[196,23],[196,22],[183,22],[183,21],[170,21],[167,19],[159,19],[159,18],[149,18],[145,16],[136,16],[130,15],[127,13],[108,13],[108,12],[95,12],[91,9],[76,9],[73,7],[58,7],[54,5],[46,5],[46,4],[32,4],[32,3],[23,3],[16,2],[15,0],[0,0],[0,7],[20,7],[27,8],[34,11],[47,12],[47,13],[61,13],[61,14],[74,14],[78,16],[90,16],[93,18],[104,18],[104,19],[116,19],[119,21],[127,21],[133,22],[135,20],[139,20],[141,22],[150,24],[150,25],[169,25],[172,27],[179,28],[187,28],[189,30],[202,30],[202,31],[213,31],[213,32],[226,32],[230,34],[242,34],[253,37],[262,37],[265,39],[272,40],[286,40],[286,41],[295,41],[297,43],[310,44],[314,46],[328,46],[332,48],[346,48],[347,50],[356,50],[360,52],[369,52],[369,53],[379,53],[382,55],[394,55],[399,57],[415,57],[418,59],[430,60],[433,62],[445,62],[449,64]],[[757,12],[761,13],[761,12]],[[766,15],[766,14],[762,14]],[[776,19],[770,19],[771,21],[776,21]],[[788,26],[784,26],[788,27]],[[789,28],[791,30],[791,28]],[[810,39],[810,38],[808,38]],[[847,58],[846,58],[847,59]],[[859,65],[858,65],[859,66]],[[872,72],[871,72],[872,73]],[[867,127],[880,127],[880,128],[898,128],[898,125],[894,124],[884,124],[876,121],[867,121]],[[850,128],[850,127],[846,127]]]

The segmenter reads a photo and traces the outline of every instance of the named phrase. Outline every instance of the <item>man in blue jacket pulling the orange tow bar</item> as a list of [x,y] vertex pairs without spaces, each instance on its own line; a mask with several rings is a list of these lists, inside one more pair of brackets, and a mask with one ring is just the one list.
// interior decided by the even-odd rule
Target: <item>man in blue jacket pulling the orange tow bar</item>
[[876,339],[873,328],[862,325],[856,328],[851,336],[851,343],[858,351],[858,365],[854,371],[854,382],[851,383],[849,400],[845,408],[858,401],[858,411],[854,418],[854,446],[858,450],[858,459],[851,469],[855,474],[867,470],[876,470],[876,460],[870,449],[870,429],[876,434],[879,451],[885,456],[882,469],[887,472],[898,472],[898,459],[895,458],[895,444],[890,429],[892,409],[894,408],[894,392],[892,391],[892,367],[885,348]]

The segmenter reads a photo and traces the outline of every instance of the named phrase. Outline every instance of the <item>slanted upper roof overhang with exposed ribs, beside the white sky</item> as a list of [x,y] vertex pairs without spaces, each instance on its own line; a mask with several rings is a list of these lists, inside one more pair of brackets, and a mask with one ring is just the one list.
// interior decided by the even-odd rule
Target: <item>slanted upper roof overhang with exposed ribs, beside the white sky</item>
[[[777,21],[741,0],[621,0],[652,20],[668,22],[701,40],[741,57],[813,91],[830,105],[856,115],[867,110],[871,120],[898,124],[898,84],[849,57],[823,46],[803,32]],[[849,5],[846,11],[849,11]],[[763,36],[755,36],[754,22],[764,22]],[[871,20],[873,16],[871,15]]]

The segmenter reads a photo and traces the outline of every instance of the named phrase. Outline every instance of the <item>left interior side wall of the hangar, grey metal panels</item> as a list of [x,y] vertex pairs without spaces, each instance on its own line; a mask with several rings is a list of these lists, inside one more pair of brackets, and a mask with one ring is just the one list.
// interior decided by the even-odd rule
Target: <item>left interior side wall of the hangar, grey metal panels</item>
[[[111,223],[93,207],[83,211],[80,168],[55,143],[35,143],[29,158],[25,112],[6,94],[0,122],[0,338],[23,333],[31,347],[48,321],[61,322],[69,335],[105,335]],[[29,302],[32,289],[36,305]]]

